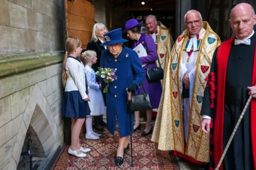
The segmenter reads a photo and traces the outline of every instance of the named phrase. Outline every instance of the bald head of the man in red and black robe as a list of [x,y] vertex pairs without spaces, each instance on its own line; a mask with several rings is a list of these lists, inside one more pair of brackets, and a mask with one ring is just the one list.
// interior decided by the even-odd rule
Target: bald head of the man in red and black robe
[[252,34],[253,26],[256,24],[255,11],[252,5],[237,4],[231,10],[229,24],[239,39],[249,37]]

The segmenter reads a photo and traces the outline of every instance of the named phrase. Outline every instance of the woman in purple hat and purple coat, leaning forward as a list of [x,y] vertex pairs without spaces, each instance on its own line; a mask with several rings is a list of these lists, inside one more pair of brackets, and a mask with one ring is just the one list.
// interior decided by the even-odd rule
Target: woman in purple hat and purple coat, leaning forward
[[[139,58],[141,65],[143,66],[143,69],[145,72],[147,72],[147,68],[154,68],[157,67],[156,60],[158,58],[156,45],[154,43],[154,40],[151,36],[147,36],[145,33],[141,33],[141,24],[143,21],[138,22],[135,19],[131,19],[125,23],[125,30],[124,33],[127,33],[127,36],[131,39],[133,39],[132,48],[134,49],[139,44],[142,44],[142,46],[147,51],[147,56],[141,56]],[[162,95],[162,85],[161,81],[158,80],[156,82],[150,82],[147,78],[145,82],[143,83],[143,86],[145,88],[145,92],[149,93],[149,99],[151,103],[152,109],[157,109],[161,100]],[[139,94],[142,94],[142,90],[137,92]],[[146,110],[147,112],[147,124],[146,128],[144,129],[141,136],[147,136],[150,133],[153,132],[153,128],[151,126],[151,118],[152,118],[152,112],[153,110]],[[141,128],[140,124],[140,112],[135,112],[135,124],[134,124],[134,131]]]

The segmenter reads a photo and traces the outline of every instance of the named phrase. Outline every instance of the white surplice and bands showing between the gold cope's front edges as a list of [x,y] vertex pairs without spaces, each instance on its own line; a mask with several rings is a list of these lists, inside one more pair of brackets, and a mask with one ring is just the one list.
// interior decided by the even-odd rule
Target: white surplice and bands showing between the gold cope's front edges
[[[190,118],[190,106],[191,106],[191,96],[193,93],[193,85],[194,85],[194,77],[195,77],[195,70],[196,70],[196,62],[198,56],[197,50],[197,38],[195,36],[191,36],[189,45],[186,50],[186,56],[181,61],[181,70],[180,70],[180,85],[181,85],[181,94],[182,94],[182,83],[183,83],[183,76],[188,73],[189,75],[189,98],[181,98],[182,103],[182,110],[183,110],[183,126],[184,126],[184,135],[185,141],[187,142],[188,139],[188,127],[189,127],[189,118]],[[188,52],[190,51],[191,47],[194,48],[194,51],[188,56]]]

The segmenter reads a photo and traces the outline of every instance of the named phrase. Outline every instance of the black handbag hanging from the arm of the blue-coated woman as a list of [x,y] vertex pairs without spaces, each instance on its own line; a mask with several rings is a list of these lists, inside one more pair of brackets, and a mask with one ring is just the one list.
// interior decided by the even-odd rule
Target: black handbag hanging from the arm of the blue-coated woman
[[144,87],[141,84],[139,79],[138,80],[143,94],[131,94],[131,101],[128,101],[128,108],[130,111],[143,111],[143,110],[151,110],[151,103],[149,100],[149,94],[145,93]]

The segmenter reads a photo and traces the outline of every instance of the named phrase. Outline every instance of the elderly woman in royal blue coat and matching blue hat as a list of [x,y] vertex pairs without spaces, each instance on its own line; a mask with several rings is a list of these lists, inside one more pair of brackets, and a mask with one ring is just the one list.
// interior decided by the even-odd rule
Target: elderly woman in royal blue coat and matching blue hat
[[[127,108],[127,90],[134,93],[141,83],[145,80],[145,71],[142,69],[138,54],[130,48],[123,45],[127,42],[122,38],[122,29],[109,31],[104,35],[104,43],[108,47],[102,51],[100,67],[113,68],[116,72],[117,79],[108,85],[106,94],[107,103],[107,128],[114,135],[115,128],[119,127],[119,145],[115,164],[122,165],[124,153],[129,149],[128,137],[130,131],[133,133],[134,112],[130,113]],[[139,80],[139,81],[138,81]],[[102,82],[102,88],[106,86]],[[117,125],[117,126],[116,126]]]

